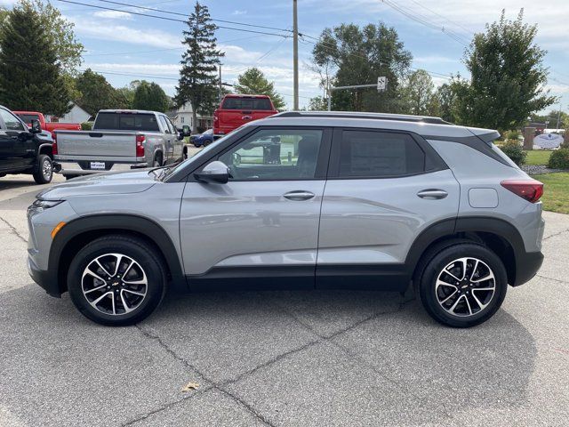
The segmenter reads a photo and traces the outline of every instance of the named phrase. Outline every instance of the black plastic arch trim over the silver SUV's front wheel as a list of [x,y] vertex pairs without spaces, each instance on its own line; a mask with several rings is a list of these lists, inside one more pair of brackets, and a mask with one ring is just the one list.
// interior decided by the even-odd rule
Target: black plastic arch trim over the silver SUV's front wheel
[[[48,294],[60,296],[66,287],[66,284],[62,283],[60,256],[68,243],[80,234],[98,230],[131,231],[148,238],[164,255],[164,262],[170,270],[174,289],[187,290],[188,286],[176,247],[160,224],[132,214],[93,214],[68,222],[53,238],[48,259],[48,277],[46,278],[48,283],[44,286]],[[63,276],[63,280],[65,277]]]

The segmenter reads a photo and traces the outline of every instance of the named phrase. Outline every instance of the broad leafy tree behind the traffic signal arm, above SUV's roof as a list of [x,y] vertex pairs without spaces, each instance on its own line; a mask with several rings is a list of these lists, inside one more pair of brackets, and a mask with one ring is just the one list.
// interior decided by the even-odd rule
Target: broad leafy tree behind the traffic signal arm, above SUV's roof
[[312,56],[315,68],[324,70],[321,77],[332,75],[336,86],[373,84],[377,77],[388,77],[387,91],[382,93],[373,88],[334,91],[333,109],[400,112],[405,108],[399,86],[413,57],[395,28],[382,23],[364,28],[354,24],[325,28]]

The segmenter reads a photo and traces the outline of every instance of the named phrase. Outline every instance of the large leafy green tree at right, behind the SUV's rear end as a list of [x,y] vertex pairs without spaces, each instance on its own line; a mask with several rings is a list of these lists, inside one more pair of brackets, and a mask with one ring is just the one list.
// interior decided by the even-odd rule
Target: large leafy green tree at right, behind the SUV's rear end
[[523,9],[513,21],[502,11],[500,20],[487,24],[465,52],[471,78],[454,82],[464,124],[513,129],[555,102],[543,89],[548,71],[543,66],[546,52],[534,43],[537,26],[525,24],[523,18]]

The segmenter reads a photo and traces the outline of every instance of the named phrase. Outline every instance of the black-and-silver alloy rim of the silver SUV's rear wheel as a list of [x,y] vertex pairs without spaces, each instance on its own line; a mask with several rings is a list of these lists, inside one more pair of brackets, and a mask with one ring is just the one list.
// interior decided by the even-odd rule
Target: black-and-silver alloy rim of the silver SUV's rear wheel
[[445,266],[437,276],[435,294],[452,316],[469,317],[485,310],[496,292],[493,270],[477,258],[464,257]]

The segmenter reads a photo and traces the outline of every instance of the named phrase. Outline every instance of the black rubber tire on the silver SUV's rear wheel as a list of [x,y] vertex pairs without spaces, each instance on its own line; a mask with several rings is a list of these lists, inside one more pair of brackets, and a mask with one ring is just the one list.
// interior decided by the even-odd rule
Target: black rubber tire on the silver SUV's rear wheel
[[[462,258],[469,258],[471,261],[464,262],[464,264],[461,262],[452,264],[452,262]],[[478,260],[478,264],[476,260]],[[477,267],[479,270],[474,270],[476,264],[479,266]],[[443,275],[441,278],[444,278],[447,283],[454,280],[452,275],[446,276],[445,268],[449,267],[449,265],[453,265],[453,268],[458,269],[455,271],[462,271],[462,265],[466,266],[464,268],[466,273],[459,278],[463,280],[460,282],[455,281],[450,286],[438,286],[440,290],[437,290],[439,275]],[[439,246],[434,251],[429,251],[429,254],[426,254],[418,269],[419,274],[418,280],[415,282],[415,290],[421,304],[429,313],[429,316],[445,326],[471,327],[480,325],[493,317],[506,297],[508,276],[503,262],[486,246],[475,242],[460,241],[454,244],[447,243],[444,246]],[[481,283],[474,283],[476,280],[470,282],[469,279],[476,277],[474,275],[478,273],[488,277],[488,270],[490,273],[493,273],[493,279]],[[450,269],[446,271],[450,271]],[[483,272],[480,273],[480,271]],[[481,291],[477,291],[477,287]],[[493,287],[493,292],[484,291],[486,287]],[[477,291],[476,299],[472,289]],[[451,294],[453,296],[449,296]],[[450,299],[445,302],[446,298]],[[458,305],[454,305],[454,302],[457,302],[458,299],[461,299],[461,302],[458,302]],[[477,304],[477,301],[482,302],[484,307]],[[442,302],[445,303],[442,304]],[[455,307],[453,309],[454,314],[449,311],[453,306]]]

